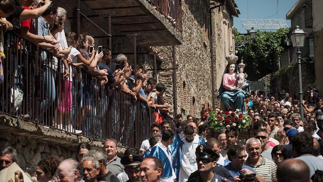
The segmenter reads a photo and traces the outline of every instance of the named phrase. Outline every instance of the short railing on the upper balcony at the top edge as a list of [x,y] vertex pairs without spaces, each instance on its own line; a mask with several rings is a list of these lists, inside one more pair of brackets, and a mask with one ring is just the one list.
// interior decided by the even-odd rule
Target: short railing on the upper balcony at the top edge
[[182,31],[181,0],[151,0],[151,4],[180,31]]

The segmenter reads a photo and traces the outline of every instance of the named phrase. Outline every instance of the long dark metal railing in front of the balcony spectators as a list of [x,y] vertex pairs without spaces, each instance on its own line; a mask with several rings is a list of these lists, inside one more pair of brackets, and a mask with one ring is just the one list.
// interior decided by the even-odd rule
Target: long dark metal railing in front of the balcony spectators
[[71,76],[63,79],[61,59],[14,33],[7,33],[4,45],[1,113],[94,140],[114,138],[122,147],[139,148],[149,138],[152,108],[101,86],[79,67],[69,66]]

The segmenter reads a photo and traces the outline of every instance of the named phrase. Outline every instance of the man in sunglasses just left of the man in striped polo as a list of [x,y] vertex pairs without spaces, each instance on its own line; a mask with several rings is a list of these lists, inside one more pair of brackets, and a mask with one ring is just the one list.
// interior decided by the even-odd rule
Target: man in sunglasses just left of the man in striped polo
[[[249,166],[245,166],[244,162],[247,159],[246,150],[242,145],[235,145],[229,148],[227,157],[231,161],[228,165],[224,166],[232,175],[234,181],[242,181],[246,175],[255,175],[256,171]],[[256,176],[257,178],[257,176]],[[258,176],[259,179],[262,179]],[[264,179],[262,179],[264,180]]]

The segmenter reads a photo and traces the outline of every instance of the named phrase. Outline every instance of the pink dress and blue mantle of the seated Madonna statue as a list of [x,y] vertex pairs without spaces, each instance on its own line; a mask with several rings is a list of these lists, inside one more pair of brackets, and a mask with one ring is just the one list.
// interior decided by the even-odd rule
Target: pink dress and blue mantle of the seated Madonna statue
[[[230,64],[226,66],[226,70],[228,70]],[[248,94],[250,92],[250,82],[245,79],[245,82],[248,84],[248,86],[240,89],[240,90],[231,90],[229,85],[234,84],[237,85],[237,74],[238,69],[237,65],[235,64],[235,73],[230,75],[227,73],[223,74],[221,86],[218,90],[218,98],[220,98],[223,101],[224,107],[226,110],[229,109],[229,107],[233,108],[233,111],[236,109],[239,109],[241,112],[245,113],[245,106],[244,106],[244,95]]]

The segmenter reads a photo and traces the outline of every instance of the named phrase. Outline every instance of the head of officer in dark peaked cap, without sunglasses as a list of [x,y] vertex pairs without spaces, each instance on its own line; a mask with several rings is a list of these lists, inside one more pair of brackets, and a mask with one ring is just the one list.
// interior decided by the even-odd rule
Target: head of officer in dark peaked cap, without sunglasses
[[141,182],[140,165],[143,157],[139,154],[130,154],[124,156],[120,163],[124,166],[124,172],[129,180],[127,182]]

